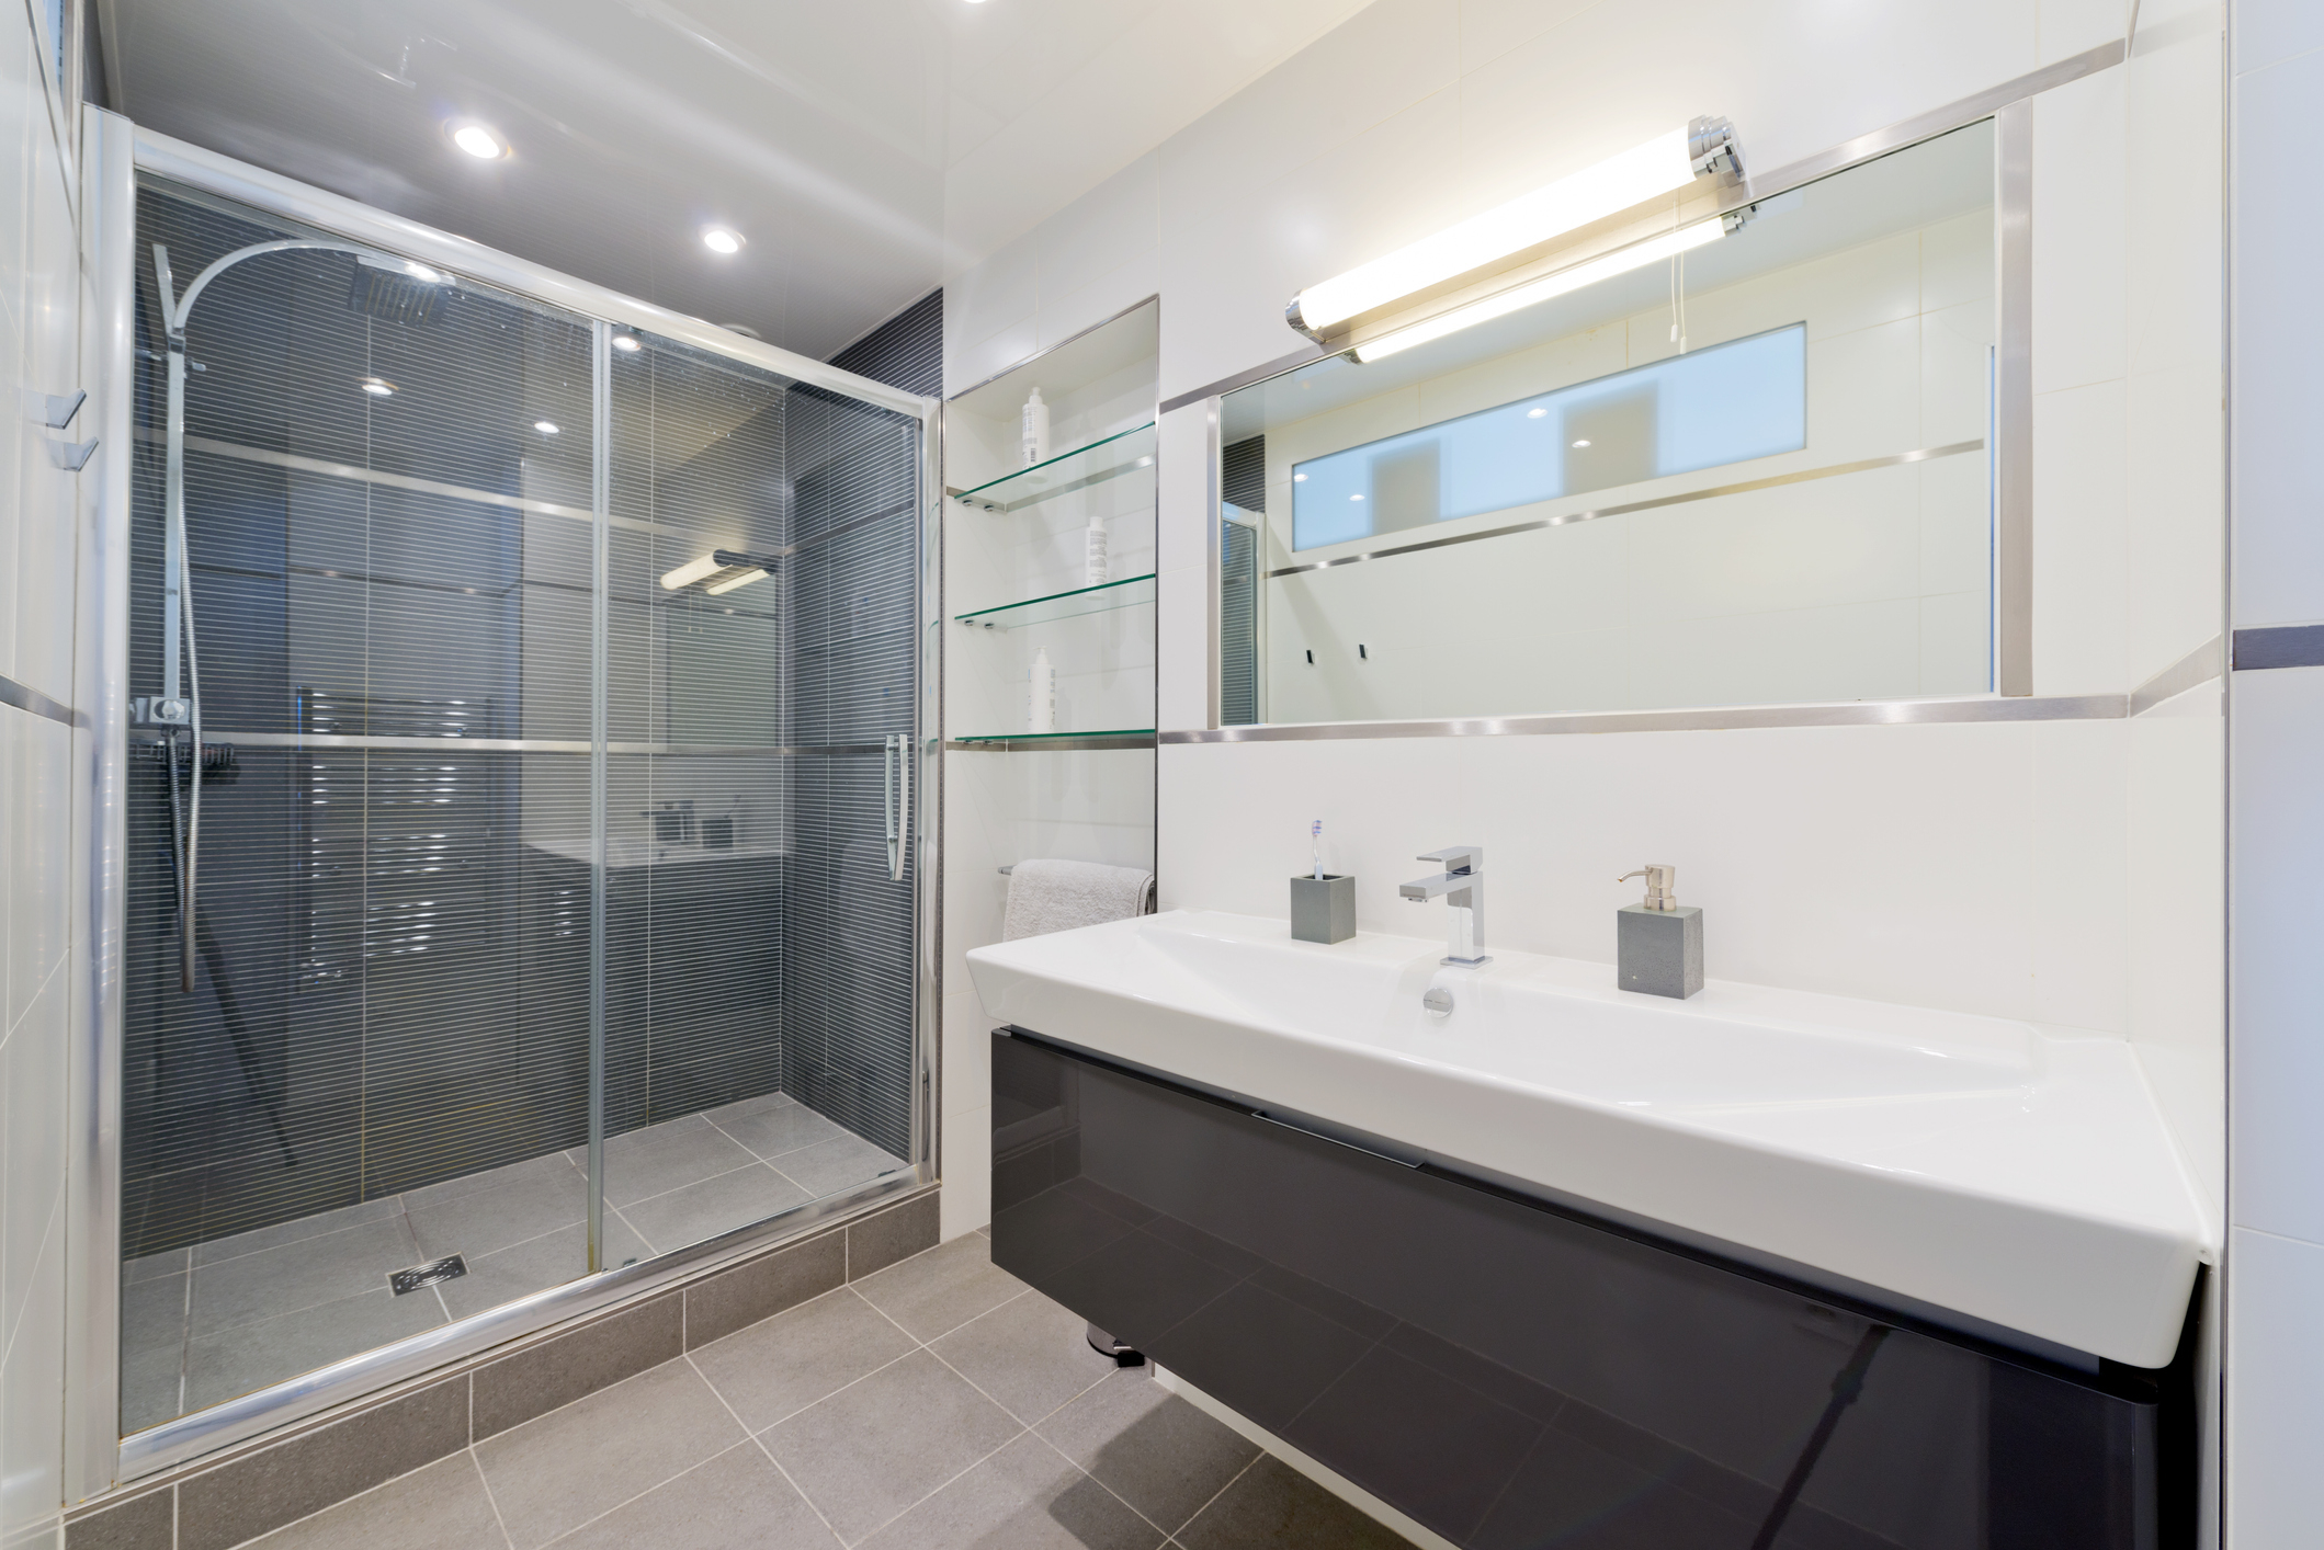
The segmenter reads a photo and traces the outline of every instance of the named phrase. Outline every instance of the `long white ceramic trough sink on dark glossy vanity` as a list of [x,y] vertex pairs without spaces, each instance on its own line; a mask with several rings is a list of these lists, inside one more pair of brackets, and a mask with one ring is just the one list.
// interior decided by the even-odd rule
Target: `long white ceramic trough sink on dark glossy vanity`
[[[1171,911],[969,953],[1050,1039],[2133,1366],[2212,1227],[2115,1039]],[[1429,988],[1452,992],[1446,1016]],[[1973,1325],[1968,1325],[1973,1327]]]

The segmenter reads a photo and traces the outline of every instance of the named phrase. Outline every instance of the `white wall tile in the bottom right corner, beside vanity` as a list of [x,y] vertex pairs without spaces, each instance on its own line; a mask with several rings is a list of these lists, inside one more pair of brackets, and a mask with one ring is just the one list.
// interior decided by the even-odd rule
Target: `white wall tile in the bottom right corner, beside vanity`
[[2324,1248],[2229,1234],[2226,1543],[2324,1543]]

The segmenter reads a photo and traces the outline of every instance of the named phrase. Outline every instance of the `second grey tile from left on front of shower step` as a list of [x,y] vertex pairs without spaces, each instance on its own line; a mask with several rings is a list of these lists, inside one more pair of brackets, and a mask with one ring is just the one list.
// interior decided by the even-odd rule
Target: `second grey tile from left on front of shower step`
[[467,1445],[467,1378],[293,1436],[177,1487],[177,1550],[228,1550]]

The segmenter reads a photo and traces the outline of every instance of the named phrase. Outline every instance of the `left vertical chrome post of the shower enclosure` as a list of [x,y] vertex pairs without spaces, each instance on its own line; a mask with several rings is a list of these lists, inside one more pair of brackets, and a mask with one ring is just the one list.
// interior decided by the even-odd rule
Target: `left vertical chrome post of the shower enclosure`
[[[125,369],[137,342],[137,167],[130,121],[84,107],[81,381],[98,455],[79,481],[74,737],[88,788],[74,855],[88,867],[65,1064],[65,1501],[109,1490],[121,1469],[121,960],[128,918],[130,449]],[[86,751],[86,753],[84,753]]]

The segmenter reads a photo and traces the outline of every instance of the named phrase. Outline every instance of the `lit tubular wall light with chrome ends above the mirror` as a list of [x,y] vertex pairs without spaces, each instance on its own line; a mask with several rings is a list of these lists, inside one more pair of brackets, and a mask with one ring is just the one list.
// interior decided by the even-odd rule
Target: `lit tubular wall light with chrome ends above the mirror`
[[1545,188],[1446,228],[1434,237],[1373,258],[1292,297],[1290,323],[1320,335],[1336,323],[1427,290],[1476,267],[1522,253],[1559,232],[1604,221],[1685,188],[1706,172],[1734,172],[1734,130],[1724,119],[1697,119],[1643,146],[1562,177]]

